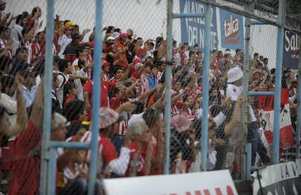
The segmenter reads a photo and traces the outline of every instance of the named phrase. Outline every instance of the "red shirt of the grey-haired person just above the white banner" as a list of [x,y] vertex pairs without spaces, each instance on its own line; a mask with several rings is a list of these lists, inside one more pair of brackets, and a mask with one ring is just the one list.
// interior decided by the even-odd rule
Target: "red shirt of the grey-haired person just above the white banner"
[[[139,146],[135,142],[131,142],[130,145],[128,146],[130,149],[130,163],[128,163],[128,169],[123,175],[123,177],[129,177],[130,176],[130,171],[131,171],[131,162],[134,161],[135,159],[135,154],[139,151]],[[145,168],[144,168],[144,163],[145,159],[143,156],[138,154],[137,158],[137,167],[136,167],[136,176],[144,176],[145,175]]]

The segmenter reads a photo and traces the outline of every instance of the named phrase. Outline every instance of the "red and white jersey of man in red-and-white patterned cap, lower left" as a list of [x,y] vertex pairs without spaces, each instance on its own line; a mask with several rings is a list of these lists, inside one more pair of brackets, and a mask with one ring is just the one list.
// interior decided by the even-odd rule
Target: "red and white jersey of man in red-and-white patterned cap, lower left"
[[[81,139],[81,142],[89,144],[91,142],[92,132],[87,131]],[[109,165],[110,161],[118,158],[116,149],[113,143],[108,140],[104,135],[97,135],[98,140],[98,155],[97,155],[97,172],[106,170],[106,167]],[[87,149],[85,153],[85,160],[90,161],[91,159],[91,150]],[[89,170],[88,164],[83,163],[82,167],[84,170]]]

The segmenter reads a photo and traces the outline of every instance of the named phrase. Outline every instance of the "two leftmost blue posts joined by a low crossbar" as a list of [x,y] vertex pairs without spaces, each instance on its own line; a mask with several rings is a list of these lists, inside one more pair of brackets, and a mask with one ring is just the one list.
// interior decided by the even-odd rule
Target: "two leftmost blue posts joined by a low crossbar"
[[[95,30],[95,47],[94,47],[94,64],[101,64],[102,53],[102,0],[96,0],[96,30]],[[43,140],[42,140],[42,157],[41,157],[41,182],[40,194],[54,195],[56,189],[56,148],[79,148],[87,149],[85,143],[65,143],[50,141],[51,134],[51,89],[52,89],[52,41],[54,32],[54,0],[47,0],[47,32],[46,32],[46,65],[45,65],[45,82],[44,82],[44,121],[43,121]],[[100,66],[93,67],[93,107],[100,107]],[[92,115],[98,116],[99,109],[93,109]],[[94,117],[92,121],[92,139],[91,139],[91,162],[89,171],[88,195],[94,194],[94,184],[96,181],[97,166],[97,134],[99,118]]]

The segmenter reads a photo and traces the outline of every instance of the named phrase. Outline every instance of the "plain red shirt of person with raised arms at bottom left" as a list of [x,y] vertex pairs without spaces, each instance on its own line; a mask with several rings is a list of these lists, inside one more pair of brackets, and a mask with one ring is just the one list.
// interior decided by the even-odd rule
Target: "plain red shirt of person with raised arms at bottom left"
[[18,134],[15,141],[11,183],[8,194],[38,195],[40,186],[41,156],[29,157],[31,150],[41,147],[42,130],[29,119],[27,129]]

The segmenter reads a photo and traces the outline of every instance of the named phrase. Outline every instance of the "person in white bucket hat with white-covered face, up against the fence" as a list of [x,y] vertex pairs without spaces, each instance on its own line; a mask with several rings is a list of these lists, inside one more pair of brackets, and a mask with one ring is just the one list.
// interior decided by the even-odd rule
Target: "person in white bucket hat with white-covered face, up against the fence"
[[[235,102],[238,100],[238,97],[241,95],[243,92],[243,76],[244,73],[239,67],[231,68],[227,72],[227,90],[226,90],[226,97],[231,98],[231,101]],[[234,109],[234,104],[232,104],[231,110],[225,106],[222,111],[213,119],[213,126],[219,127],[223,122],[231,119],[231,115]],[[258,144],[261,145],[261,143],[258,143],[258,129],[257,129],[257,119],[255,117],[254,111],[249,104],[249,115],[251,118],[251,122],[248,124],[248,135],[247,135],[247,141],[249,143],[252,143],[252,166],[255,164],[256,160],[256,153],[258,150]],[[264,148],[265,149],[265,148]],[[264,163],[267,163],[270,161],[270,158],[267,157],[267,150],[264,150],[261,152],[260,157],[263,158]]]

